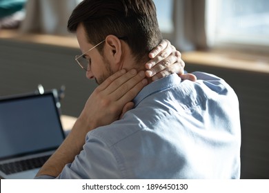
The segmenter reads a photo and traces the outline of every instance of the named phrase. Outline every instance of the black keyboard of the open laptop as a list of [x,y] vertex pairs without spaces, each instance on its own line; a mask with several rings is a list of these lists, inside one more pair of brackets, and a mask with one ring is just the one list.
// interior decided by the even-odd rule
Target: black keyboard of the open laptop
[[26,159],[22,161],[15,161],[12,163],[3,163],[0,165],[0,170],[6,174],[14,174],[17,172],[23,172],[34,168],[41,167],[48,159],[48,156],[41,156],[33,159]]

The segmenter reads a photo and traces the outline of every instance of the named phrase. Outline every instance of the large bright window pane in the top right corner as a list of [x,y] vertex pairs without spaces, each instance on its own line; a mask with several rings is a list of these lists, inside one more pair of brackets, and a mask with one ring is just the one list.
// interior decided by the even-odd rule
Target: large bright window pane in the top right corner
[[208,0],[209,44],[268,50],[268,8],[268,0]]

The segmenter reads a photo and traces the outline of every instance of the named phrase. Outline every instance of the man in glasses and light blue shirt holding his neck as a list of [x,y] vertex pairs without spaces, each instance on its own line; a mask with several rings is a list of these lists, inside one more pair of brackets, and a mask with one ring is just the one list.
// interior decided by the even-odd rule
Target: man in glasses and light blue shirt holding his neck
[[[177,74],[144,79],[143,63],[161,41],[152,1],[86,0],[72,12],[68,29],[88,60],[86,76],[100,85],[37,178],[239,178],[239,104],[232,88],[201,72],[197,82]],[[131,77],[137,79],[133,88],[149,84],[133,102],[119,103]],[[102,92],[121,107],[100,112],[107,105],[96,96]]]

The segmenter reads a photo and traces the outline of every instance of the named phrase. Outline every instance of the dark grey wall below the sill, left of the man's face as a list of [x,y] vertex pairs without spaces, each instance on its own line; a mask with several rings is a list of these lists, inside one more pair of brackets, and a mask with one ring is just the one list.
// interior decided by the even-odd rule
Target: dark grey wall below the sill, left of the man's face
[[45,90],[66,85],[62,112],[79,116],[96,86],[74,61],[79,53],[79,48],[0,39],[0,96],[32,92],[38,84]]

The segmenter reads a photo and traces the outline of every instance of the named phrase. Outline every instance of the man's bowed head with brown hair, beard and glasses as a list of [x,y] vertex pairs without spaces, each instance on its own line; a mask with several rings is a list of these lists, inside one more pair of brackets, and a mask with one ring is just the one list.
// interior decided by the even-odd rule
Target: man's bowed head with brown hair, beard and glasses
[[[83,52],[106,40],[89,52],[94,54],[98,50],[106,67],[103,74],[88,73],[87,77],[96,77],[98,83],[121,68],[141,69],[150,50],[162,39],[151,0],[82,1],[70,16],[68,30],[77,33]],[[117,59],[112,54],[117,54]],[[134,61],[133,66],[128,65],[128,60]],[[103,78],[98,80],[98,76]]]

